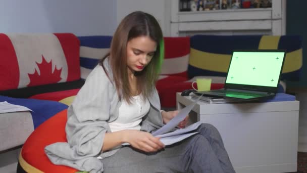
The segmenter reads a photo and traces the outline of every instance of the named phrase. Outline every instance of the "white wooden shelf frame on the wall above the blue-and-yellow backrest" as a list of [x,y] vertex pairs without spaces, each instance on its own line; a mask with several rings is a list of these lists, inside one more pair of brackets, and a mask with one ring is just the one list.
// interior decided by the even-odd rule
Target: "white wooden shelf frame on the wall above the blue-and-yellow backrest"
[[171,1],[171,36],[193,34],[285,34],[285,0],[272,0],[272,8],[179,12]]

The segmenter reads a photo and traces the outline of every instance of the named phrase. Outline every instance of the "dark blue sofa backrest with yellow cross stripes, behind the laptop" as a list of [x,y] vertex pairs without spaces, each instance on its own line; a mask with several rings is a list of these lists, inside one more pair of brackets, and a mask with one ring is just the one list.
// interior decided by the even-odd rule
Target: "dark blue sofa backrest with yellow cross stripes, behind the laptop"
[[282,80],[299,80],[302,67],[300,36],[266,35],[194,35],[190,38],[188,76],[226,76],[230,58],[236,49],[283,49],[286,59]]

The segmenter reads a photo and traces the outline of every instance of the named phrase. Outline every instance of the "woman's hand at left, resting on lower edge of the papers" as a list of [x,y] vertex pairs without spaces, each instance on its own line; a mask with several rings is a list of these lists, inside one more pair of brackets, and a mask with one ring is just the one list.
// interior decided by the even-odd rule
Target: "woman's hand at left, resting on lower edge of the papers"
[[125,142],[129,143],[132,147],[145,152],[156,152],[165,147],[160,141],[160,138],[154,137],[148,132],[132,129],[126,130]]

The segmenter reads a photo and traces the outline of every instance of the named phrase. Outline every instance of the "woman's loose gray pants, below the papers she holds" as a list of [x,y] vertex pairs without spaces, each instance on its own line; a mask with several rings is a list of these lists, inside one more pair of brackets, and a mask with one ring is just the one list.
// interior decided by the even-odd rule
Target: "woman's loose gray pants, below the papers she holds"
[[155,153],[126,146],[102,159],[108,172],[235,172],[218,130],[201,124],[194,135]]

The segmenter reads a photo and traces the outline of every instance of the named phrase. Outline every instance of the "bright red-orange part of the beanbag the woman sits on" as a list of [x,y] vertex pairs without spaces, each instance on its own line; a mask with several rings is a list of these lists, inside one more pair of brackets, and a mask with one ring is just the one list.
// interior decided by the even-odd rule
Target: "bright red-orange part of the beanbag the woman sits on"
[[67,142],[66,121],[67,110],[63,110],[39,125],[23,145],[22,158],[43,172],[76,172],[74,168],[53,164],[44,152],[45,146],[49,144]]

